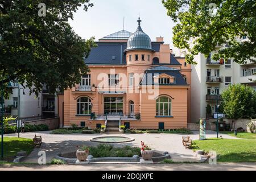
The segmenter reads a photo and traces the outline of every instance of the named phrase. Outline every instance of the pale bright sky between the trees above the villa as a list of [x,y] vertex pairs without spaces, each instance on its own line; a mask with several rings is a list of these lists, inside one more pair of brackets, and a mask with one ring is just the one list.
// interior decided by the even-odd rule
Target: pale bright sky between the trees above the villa
[[96,40],[123,30],[135,32],[138,27],[138,16],[141,16],[142,30],[155,41],[162,36],[165,44],[172,44],[172,22],[162,0],[90,0],[94,4],[84,11],[82,7],[69,20],[73,30],[84,39],[95,36]]

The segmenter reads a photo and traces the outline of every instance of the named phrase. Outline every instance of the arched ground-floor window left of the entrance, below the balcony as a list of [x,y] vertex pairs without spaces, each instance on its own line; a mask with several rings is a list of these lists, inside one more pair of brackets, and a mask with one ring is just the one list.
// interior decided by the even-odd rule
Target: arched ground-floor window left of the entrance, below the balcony
[[81,97],[77,100],[77,114],[88,115],[92,113],[92,102],[88,97]]

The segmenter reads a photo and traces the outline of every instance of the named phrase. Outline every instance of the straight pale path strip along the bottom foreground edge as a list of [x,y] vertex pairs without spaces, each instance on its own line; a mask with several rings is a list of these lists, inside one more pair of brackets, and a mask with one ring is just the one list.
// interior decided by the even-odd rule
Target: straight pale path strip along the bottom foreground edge
[[90,164],[61,166],[0,166],[1,171],[256,171],[256,163],[193,164]]

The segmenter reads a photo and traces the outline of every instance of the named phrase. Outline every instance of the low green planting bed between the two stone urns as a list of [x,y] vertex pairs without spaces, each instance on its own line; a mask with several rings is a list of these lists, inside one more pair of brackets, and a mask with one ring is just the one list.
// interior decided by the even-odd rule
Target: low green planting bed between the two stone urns
[[96,147],[89,147],[90,155],[94,158],[106,158],[106,157],[119,157],[119,158],[131,158],[134,155],[141,155],[141,148],[139,147],[113,147],[110,144],[100,144]]

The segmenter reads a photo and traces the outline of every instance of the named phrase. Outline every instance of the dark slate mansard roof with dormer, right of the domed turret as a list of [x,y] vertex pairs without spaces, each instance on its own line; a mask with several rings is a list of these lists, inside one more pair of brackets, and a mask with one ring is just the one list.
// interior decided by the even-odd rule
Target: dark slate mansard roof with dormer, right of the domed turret
[[168,85],[188,85],[187,82],[185,82],[183,76],[181,75],[179,69],[163,66],[147,69],[146,74],[141,81],[141,85],[154,85],[154,76],[160,75],[162,73],[175,77],[174,83]]

